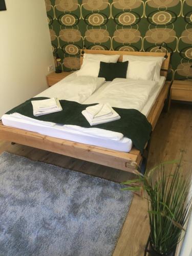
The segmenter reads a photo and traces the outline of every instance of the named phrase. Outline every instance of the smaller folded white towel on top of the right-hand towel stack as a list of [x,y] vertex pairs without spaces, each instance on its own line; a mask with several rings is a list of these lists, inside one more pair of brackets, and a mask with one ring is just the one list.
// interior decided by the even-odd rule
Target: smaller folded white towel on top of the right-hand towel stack
[[86,108],[87,112],[90,114],[91,118],[111,116],[112,108],[109,104],[97,104],[94,106],[88,106]]

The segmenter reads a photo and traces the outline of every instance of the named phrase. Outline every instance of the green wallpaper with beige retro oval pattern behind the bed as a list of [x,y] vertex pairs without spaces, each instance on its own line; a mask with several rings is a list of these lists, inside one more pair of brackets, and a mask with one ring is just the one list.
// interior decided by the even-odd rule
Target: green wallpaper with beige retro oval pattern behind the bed
[[192,0],[45,0],[53,54],[79,69],[87,49],[172,53],[168,78],[192,79]]

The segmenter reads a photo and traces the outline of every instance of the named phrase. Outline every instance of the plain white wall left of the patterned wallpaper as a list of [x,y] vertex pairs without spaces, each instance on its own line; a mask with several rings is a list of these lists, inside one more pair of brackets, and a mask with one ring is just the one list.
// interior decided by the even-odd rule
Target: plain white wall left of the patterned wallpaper
[[0,11],[0,118],[47,88],[54,65],[45,0],[5,0]]

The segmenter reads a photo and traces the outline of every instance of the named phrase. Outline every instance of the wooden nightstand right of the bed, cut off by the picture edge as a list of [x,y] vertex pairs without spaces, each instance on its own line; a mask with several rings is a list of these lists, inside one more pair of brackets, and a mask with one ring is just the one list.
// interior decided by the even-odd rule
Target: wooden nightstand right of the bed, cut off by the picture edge
[[170,96],[174,100],[192,101],[192,81],[174,80]]

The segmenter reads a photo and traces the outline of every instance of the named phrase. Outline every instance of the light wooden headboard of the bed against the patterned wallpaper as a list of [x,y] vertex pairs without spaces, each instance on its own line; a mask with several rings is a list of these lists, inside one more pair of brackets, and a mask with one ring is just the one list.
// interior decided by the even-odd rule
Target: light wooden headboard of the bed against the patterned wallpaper
[[[82,50],[81,50],[82,51]],[[128,52],[128,51],[106,51],[106,50],[87,50],[84,49],[84,53],[91,53],[91,54],[106,54],[106,55],[112,55],[112,54],[119,54],[119,60],[122,61],[123,55],[135,55],[135,56],[164,56],[164,52]],[[170,53],[167,52],[167,58],[163,61],[163,64],[161,66],[161,76],[167,76],[167,70],[169,66],[170,61]],[[80,55],[80,66],[82,65],[83,56]]]

